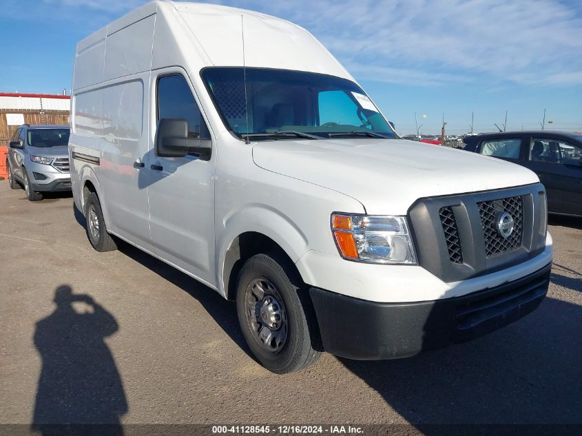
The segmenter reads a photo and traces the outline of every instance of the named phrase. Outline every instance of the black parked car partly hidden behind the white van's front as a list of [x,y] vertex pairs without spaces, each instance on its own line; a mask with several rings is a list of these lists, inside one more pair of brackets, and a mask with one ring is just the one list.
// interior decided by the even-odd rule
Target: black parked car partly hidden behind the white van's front
[[548,211],[582,216],[582,134],[499,132],[467,136],[468,152],[527,167],[548,192]]

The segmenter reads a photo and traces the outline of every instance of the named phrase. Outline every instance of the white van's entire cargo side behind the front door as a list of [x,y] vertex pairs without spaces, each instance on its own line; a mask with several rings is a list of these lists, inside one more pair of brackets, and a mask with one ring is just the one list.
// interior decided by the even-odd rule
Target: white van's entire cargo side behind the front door
[[83,207],[83,185],[96,178],[90,181],[99,186],[107,228],[147,249],[152,249],[147,189],[135,164],[143,161],[149,146],[144,108],[149,105],[155,17],[137,17],[134,23],[124,17],[79,43],[70,139],[71,153],[99,158],[85,174],[74,172],[87,163],[72,159],[76,203]]

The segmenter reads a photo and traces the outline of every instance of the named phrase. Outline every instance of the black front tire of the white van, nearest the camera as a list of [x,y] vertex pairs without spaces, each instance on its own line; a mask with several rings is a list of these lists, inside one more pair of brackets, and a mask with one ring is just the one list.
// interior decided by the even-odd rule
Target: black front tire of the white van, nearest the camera
[[[321,355],[317,320],[311,299],[303,288],[298,273],[278,253],[257,254],[238,273],[236,308],[242,335],[256,360],[273,373],[299,371],[315,363]],[[258,298],[252,289],[266,289],[263,298]],[[265,313],[272,315],[273,311],[264,312],[263,308],[273,301],[280,309],[280,321],[268,326],[262,317]],[[271,321],[276,319],[267,317]],[[267,332],[267,338],[274,339],[262,340],[262,331]]]

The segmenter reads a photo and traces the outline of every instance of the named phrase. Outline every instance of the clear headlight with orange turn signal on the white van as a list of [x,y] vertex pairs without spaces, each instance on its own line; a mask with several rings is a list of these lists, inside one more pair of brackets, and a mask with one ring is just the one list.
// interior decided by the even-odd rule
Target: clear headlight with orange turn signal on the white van
[[406,217],[332,214],[331,231],[342,258],[356,262],[417,264]]

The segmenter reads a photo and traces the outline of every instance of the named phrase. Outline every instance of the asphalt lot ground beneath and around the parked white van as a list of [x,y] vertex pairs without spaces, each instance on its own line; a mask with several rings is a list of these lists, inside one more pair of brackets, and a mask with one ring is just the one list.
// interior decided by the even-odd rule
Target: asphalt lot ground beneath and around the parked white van
[[[550,220],[552,284],[523,320],[406,360],[325,354],[284,376],[249,357],[214,291],[127,245],[94,251],[70,196],[30,203],[2,180],[0,220],[0,424],[55,411],[124,424],[582,423],[582,219]],[[56,310],[63,287],[98,306]]]

